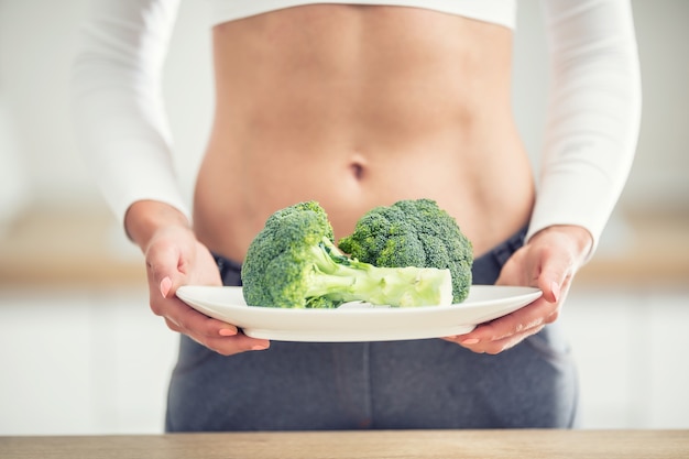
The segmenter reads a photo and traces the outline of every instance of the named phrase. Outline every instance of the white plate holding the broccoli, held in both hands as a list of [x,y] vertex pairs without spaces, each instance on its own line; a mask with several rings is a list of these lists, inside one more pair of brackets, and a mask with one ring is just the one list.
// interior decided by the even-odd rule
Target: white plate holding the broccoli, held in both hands
[[241,327],[254,338],[280,341],[391,341],[438,338],[471,331],[538,298],[531,287],[472,285],[450,306],[393,308],[348,303],[337,309],[247,306],[241,287],[186,285],[177,296],[207,316]]

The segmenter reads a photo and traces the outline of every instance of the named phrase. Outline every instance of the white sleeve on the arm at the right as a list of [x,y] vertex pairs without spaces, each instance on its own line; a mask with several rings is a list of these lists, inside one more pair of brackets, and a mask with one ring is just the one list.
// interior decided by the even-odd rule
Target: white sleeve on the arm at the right
[[542,0],[551,86],[527,239],[578,225],[595,250],[632,166],[641,75],[627,0]]

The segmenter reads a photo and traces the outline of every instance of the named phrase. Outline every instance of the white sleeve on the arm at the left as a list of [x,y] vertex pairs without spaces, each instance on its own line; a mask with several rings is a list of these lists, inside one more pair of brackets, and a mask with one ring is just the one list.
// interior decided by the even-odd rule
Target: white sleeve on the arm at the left
[[92,0],[81,30],[72,75],[76,135],[119,221],[141,199],[189,217],[161,88],[177,8],[178,0]]

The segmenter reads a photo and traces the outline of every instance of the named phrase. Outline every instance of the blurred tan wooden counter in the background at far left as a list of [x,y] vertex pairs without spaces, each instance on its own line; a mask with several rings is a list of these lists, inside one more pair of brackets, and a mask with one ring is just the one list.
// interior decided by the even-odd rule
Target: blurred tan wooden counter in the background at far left
[[143,255],[107,209],[31,208],[0,234],[0,287],[145,283]]

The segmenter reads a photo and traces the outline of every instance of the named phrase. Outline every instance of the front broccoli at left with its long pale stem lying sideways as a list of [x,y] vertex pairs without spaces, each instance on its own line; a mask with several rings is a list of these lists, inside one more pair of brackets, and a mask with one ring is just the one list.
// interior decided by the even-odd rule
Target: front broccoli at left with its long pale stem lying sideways
[[448,270],[376,267],[343,254],[316,201],[277,210],[252,240],[241,271],[250,306],[331,308],[344,302],[424,306],[452,302]]

